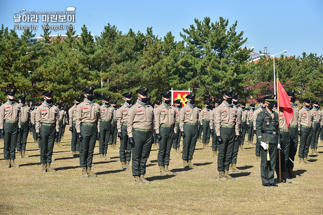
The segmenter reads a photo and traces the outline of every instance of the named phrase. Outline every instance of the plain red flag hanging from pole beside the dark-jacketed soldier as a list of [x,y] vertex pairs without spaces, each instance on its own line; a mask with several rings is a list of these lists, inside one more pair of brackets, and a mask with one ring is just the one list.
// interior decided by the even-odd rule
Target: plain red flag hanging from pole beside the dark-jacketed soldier
[[289,97],[284,89],[284,87],[281,85],[280,81],[278,81],[278,107],[283,108],[283,112],[285,115],[285,119],[287,122],[287,126],[289,127],[290,120],[293,117],[293,108],[290,105]]

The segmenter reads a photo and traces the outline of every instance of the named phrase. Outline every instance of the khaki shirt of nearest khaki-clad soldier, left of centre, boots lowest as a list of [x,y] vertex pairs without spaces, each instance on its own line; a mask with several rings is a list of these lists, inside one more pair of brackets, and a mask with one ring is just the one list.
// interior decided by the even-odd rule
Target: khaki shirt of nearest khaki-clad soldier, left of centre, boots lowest
[[151,129],[154,128],[154,113],[150,105],[143,107],[138,102],[134,104],[128,111],[127,131],[128,137],[133,137],[132,131],[137,129]]

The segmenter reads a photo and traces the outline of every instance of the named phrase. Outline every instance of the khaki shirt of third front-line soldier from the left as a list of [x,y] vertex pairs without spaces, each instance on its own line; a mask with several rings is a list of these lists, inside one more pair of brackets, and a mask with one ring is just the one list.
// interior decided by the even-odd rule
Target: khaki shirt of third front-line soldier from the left
[[76,107],[76,132],[81,132],[81,123],[96,124],[98,123],[98,132],[100,132],[100,106],[97,103],[81,102]]

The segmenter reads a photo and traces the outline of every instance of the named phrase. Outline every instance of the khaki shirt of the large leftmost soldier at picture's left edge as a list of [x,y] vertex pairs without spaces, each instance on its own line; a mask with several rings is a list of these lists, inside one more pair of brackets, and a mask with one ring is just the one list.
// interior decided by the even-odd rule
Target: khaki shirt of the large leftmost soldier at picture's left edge
[[9,102],[0,106],[0,129],[3,129],[5,121],[18,122],[18,128],[21,128],[21,111],[20,105],[14,102],[12,105]]

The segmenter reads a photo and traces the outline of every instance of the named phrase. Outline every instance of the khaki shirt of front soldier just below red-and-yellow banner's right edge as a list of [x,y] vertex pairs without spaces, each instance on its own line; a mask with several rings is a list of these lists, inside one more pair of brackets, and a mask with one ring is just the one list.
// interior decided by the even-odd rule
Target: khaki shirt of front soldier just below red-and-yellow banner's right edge
[[192,123],[196,124],[199,122],[199,109],[194,106],[194,108],[190,108],[190,106],[185,105],[180,110],[180,129],[184,131],[184,123]]

